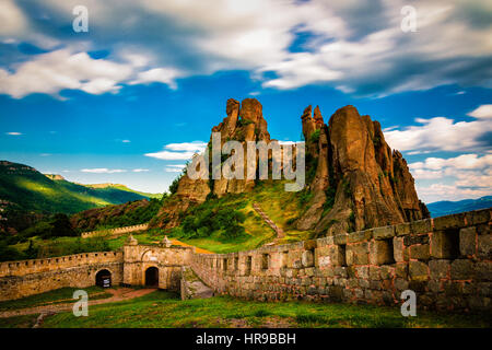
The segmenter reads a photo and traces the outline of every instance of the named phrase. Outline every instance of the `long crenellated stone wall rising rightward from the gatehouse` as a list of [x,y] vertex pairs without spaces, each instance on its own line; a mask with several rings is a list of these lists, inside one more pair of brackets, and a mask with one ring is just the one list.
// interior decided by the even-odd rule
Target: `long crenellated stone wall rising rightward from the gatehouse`
[[192,255],[218,293],[249,300],[490,311],[491,211],[471,211],[234,254]]

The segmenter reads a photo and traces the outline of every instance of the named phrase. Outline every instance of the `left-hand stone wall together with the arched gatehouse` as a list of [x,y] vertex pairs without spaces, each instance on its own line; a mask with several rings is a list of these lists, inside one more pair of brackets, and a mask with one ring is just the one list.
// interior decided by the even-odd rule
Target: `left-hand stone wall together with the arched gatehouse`
[[96,273],[108,270],[113,285],[145,284],[145,270],[159,269],[159,288],[179,291],[180,267],[189,265],[191,247],[126,245],[120,252],[99,252],[0,264],[0,301],[50,290],[96,284]]

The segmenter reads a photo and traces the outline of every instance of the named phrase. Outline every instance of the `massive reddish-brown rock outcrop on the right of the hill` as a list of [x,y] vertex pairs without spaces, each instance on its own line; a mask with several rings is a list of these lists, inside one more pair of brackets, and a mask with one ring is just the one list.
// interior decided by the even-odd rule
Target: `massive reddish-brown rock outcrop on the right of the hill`
[[[305,113],[302,119],[304,126]],[[317,170],[308,185],[314,197],[298,230],[332,235],[429,217],[405,160],[391,153],[379,122],[345,106],[320,130],[317,151],[307,147]]]

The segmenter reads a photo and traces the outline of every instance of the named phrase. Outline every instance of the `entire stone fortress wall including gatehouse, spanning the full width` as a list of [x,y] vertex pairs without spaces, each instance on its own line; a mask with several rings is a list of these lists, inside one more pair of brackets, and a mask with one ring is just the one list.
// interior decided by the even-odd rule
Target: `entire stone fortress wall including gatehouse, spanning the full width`
[[102,275],[114,285],[179,291],[191,270],[215,294],[248,300],[397,305],[410,289],[419,308],[490,312],[491,215],[489,208],[232,254],[133,240],[120,252],[7,261],[0,301],[94,285]]

